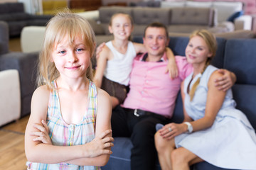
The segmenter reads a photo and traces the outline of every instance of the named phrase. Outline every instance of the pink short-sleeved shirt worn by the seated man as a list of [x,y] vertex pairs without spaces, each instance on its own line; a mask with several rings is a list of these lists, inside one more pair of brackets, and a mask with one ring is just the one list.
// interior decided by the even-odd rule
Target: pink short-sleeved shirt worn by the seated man
[[[145,55],[145,54],[144,54]],[[123,103],[124,108],[151,111],[171,118],[181,81],[193,71],[186,57],[176,56],[178,77],[171,80],[166,73],[168,62],[143,62],[144,56],[137,56],[130,75],[130,91]],[[166,58],[164,54],[163,58]]]

